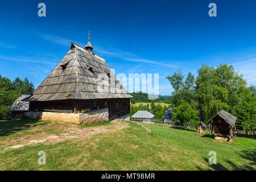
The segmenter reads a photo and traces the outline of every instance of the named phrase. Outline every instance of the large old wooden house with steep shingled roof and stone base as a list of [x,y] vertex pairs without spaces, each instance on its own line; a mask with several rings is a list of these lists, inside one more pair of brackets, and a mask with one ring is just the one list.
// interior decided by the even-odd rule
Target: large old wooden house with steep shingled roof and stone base
[[71,43],[67,55],[29,98],[28,117],[89,123],[129,116],[132,96],[92,50],[90,33],[85,48]]

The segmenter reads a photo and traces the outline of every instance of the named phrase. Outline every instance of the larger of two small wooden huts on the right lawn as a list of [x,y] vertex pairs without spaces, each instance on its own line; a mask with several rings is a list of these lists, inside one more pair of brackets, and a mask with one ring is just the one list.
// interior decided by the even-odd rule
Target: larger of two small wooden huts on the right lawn
[[233,130],[236,121],[237,118],[232,114],[221,110],[208,123],[212,124],[212,132],[214,130],[215,139],[232,141],[232,138],[236,138]]

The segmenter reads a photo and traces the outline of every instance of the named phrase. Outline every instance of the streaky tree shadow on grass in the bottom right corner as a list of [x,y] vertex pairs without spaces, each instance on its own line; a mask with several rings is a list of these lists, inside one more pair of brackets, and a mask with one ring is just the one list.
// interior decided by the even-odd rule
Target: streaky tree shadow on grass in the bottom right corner
[[[233,163],[231,160],[225,160],[225,163],[228,164],[226,166],[229,166],[229,168],[223,166],[222,164],[218,163],[217,159],[217,164],[209,164],[209,167],[212,170],[216,171],[255,171],[255,165],[256,165],[256,150],[243,150],[240,152],[237,152],[237,155],[240,156],[241,158],[245,159],[248,161],[247,164],[242,164],[241,166],[237,166],[237,164]],[[209,159],[204,158],[205,162],[209,162]],[[254,166],[254,167],[252,167]],[[204,169],[197,166],[197,169],[203,171]]]

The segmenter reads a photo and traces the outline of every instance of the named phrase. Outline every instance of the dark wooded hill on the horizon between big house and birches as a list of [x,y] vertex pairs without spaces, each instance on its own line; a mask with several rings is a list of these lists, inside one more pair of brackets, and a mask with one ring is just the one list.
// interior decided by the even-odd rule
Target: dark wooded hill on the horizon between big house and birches
[[[137,103],[137,102],[163,102],[166,104],[171,104],[172,96],[160,96],[155,100],[149,100],[148,94],[139,92],[139,93],[129,93],[133,98],[130,99],[131,103]],[[155,96],[150,96],[151,98],[154,98]]]

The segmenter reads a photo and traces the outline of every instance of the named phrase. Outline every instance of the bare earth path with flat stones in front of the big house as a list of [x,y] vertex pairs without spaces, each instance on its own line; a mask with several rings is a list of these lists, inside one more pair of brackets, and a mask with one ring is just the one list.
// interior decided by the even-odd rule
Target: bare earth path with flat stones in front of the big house
[[[48,123],[48,125],[52,125],[53,123]],[[54,124],[53,124],[54,125]],[[56,144],[60,142],[64,142],[66,140],[75,140],[75,139],[83,139],[88,138],[92,135],[96,135],[99,133],[108,133],[116,130],[121,130],[125,127],[128,127],[127,122],[122,122],[118,120],[113,120],[110,122],[110,125],[100,125],[100,126],[92,126],[81,128],[75,124],[65,123],[65,125],[61,126],[61,132],[59,135],[55,133],[49,133],[44,131],[44,127],[36,127],[33,130],[40,131],[34,135],[23,135],[20,138],[11,139],[11,140],[3,140],[0,142],[0,147],[7,148],[19,148],[27,145],[35,145],[35,144]],[[46,126],[47,127],[47,126]],[[48,126],[51,127],[51,126]],[[59,126],[56,127],[56,130],[60,130]],[[54,131],[54,129],[53,129]]]

